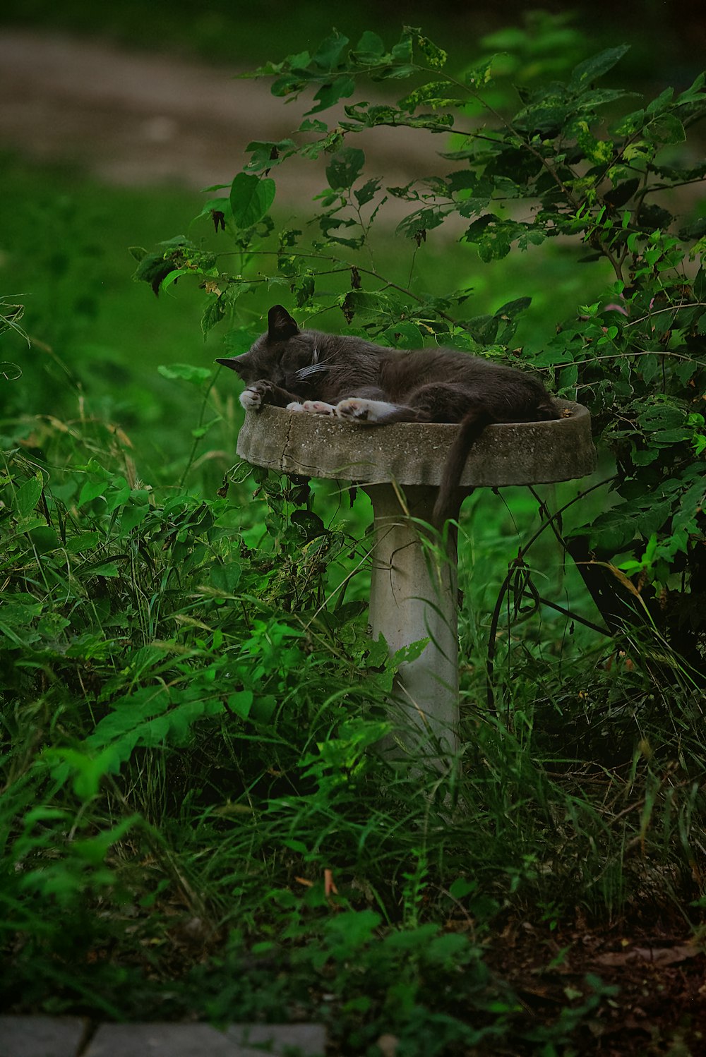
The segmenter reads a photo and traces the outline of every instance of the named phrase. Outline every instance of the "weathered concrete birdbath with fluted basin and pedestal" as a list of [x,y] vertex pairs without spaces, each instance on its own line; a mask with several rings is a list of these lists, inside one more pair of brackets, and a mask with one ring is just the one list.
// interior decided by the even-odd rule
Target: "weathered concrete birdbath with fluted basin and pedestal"
[[[486,427],[468,456],[454,518],[476,487],[569,481],[595,469],[588,410],[557,404],[561,419]],[[453,753],[459,728],[457,536],[446,534],[444,552],[430,522],[457,430],[409,422],[365,427],[265,406],[246,412],[238,435],[238,455],[246,462],[351,482],[370,496],[372,635],[383,634],[391,654],[427,641],[400,666],[393,692],[411,721],[407,734],[424,731],[427,756],[440,763]]]

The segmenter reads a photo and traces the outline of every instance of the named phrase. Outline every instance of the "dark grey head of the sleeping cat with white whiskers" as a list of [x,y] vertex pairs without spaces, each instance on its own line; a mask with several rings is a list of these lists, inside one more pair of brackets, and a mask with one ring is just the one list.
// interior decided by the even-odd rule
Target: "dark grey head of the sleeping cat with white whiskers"
[[311,388],[312,374],[319,372],[316,335],[313,331],[300,331],[286,309],[275,304],[267,313],[266,332],[248,352],[216,363],[236,371],[246,386],[267,378],[276,386],[299,393]]

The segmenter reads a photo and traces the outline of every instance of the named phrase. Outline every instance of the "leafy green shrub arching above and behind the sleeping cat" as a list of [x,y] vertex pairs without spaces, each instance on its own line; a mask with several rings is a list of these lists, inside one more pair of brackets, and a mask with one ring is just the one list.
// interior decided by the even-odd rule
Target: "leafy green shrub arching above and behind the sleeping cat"
[[[519,34],[507,43],[520,54],[527,39]],[[703,668],[703,222],[675,218],[671,203],[679,188],[706,174],[706,166],[681,154],[688,130],[706,112],[706,75],[626,112],[631,93],[600,81],[627,50],[606,49],[562,80],[535,76],[510,86],[502,57],[453,75],[444,52],[406,27],[390,49],[376,34],[351,47],[334,33],[313,54],[257,70],[253,76],[273,78],[274,95],[310,94],[314,106],[295,137],[249,145],[250,161],[235,178],[231,212],[223,215],[222,226],[247,249],[257,274],[220,273],[216,303],[222,311],[210,301],[202,327],[237,315],[234,299],[262,282],[262,255],[274,238],[263,221],[279,167],[296,156],[312,163],[323,156],[328,188],[311,218],[319,235],[309,241],[301,231],[280,231],[268,285],[286,282],[309,315],[337,305],[349,326],[393,345],[427,337],[484,355],[512,355],[545,373],[559,395],[588,404],[598,439],[615,455],[617,475],[610,508],[576,532],[594,558],[632,577],[651,620]],[[345,116],[328,125],[321,115],[350,100],[361,78],[387,85],[388,96],[398,95],[401,80],[414,87],[396,101],[348,101]],[[379,177],[367,173],[364,150],[351,146],[379,126],[390,134],[400,126],[442,134],[446,173],[384,188]],[[440,298],[404,283],[400,265],[388,273],[371,266],[374,230],[392,199],[407,207],[396,233],[411,242],[412,265],[427,239],[453,224],[487,263],[560,238],[583,254],[586,268],[592,261],[609,265],[613,281],[593,303],[577,305],[572,318],[551,320],[534,348],[514,349],[526,296],[473,316],[465,286]],[[154,281],[182,275],[182,255],[181,245],[165,254]],[[166,272],[169,260],[172,273]],[[206,270],[193,254],[189,260],[200,275],[216,274],[210,258]],[[151,278],[153,266],[137,277]],[[332,277],[348,279],[349,289],[331,293]]]

